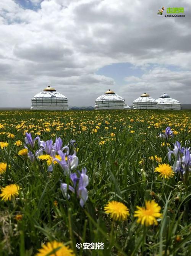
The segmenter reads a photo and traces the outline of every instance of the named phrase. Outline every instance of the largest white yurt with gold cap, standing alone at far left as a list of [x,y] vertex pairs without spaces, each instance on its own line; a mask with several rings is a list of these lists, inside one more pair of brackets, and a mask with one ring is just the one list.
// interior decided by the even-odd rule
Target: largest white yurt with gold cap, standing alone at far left
[[32,110],[69,110],[68,99],[50,86],[37,93],[31,101]]

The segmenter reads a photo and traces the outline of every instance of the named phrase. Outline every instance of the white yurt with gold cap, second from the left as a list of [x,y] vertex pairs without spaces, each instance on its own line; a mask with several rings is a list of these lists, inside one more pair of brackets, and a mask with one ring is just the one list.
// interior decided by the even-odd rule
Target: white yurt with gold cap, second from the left
[[95,99],[95,110],[124,109],[124,99],[110,89]]

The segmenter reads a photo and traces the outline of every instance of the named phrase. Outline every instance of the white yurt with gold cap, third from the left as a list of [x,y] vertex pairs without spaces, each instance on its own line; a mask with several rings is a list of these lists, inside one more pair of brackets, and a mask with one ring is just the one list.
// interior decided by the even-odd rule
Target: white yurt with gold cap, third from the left
[[157,109],[157,101],[145,92],[133,101],[133,109]]

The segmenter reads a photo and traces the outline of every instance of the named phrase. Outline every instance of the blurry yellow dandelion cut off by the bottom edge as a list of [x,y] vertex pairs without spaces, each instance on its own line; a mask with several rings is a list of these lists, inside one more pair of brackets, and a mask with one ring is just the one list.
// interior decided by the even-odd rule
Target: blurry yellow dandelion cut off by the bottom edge
[[74,252],[69,246],[63,243],[52,241],[44,244],[36,256],[74,256]]

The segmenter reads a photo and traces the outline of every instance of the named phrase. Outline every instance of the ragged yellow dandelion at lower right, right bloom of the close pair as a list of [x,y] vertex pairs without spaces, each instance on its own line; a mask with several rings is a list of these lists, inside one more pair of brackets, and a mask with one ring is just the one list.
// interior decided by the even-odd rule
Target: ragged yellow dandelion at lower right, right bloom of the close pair
[[134,213],[134,217],[138,217],[137,223],[141,223],[141,225],[158,225],[156,218],[161,218],[162,214],[160,213],[161,207],[154,201],[146,201],[146,207],[139,207]]

